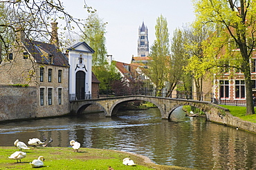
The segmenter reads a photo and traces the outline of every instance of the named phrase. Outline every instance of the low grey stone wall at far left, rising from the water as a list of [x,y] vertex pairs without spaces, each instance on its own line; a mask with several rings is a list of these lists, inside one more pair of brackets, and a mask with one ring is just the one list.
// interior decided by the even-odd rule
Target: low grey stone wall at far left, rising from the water
[[35,117],[36,87],[0,85],[0,121]]

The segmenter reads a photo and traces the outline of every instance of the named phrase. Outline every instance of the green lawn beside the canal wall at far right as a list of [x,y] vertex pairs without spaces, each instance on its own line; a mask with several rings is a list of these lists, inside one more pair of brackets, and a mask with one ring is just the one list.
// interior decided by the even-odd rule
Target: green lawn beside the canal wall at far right
[[[241,118],[241,120],[256,123],[256,114],[250,114],[246,116],[246,107],[231,106],[231,105],[220,105],[220,106],[229,109],[230,114],[232,114],[232,116]],[[256,109],[255,109],[255,113],[256,113]]]

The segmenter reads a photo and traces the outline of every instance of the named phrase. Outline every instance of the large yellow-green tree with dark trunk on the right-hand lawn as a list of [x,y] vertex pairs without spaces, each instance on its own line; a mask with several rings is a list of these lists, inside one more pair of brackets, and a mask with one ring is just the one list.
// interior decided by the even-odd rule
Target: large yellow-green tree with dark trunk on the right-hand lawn
[[[226,46],[227,41],[223,41],[223,39],[226,39],[229,40],[229,42],[232,40],[235,45],[239,47],[239,50],[236,53],[232,53],[236,57],[232,60],[237,62],[236,65],[241,66],[241,72],[244,73],[246,87],[246,114],[255,114],[253,107],[250,59],[256,41],[256,1],[198,0],[194,2],[194,6],[196,9],[196,23],[198,23],[198,25],[210,25],[216,28],[217,32],[214,38],[218,41],[213,41],[215,45],[219,45],[219,47]],[[218,47],[215,47],[215,50],[216,49],[218,49]],[[228,50],[228,47],[226,47],[225,50]],[[237,53],[240,57],[237,56]],[[205,50],[205,55],[216,57],[216,52],[210,54],[210,50]]]

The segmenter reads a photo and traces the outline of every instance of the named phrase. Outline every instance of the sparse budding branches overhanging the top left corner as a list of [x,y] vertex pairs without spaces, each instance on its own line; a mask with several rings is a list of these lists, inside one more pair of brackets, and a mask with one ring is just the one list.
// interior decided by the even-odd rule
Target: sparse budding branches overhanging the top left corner
[[[88,12],[95,12],[86,4],[84,8]],[[24,31],[27,39],[49,42],[53,36],[51,23],[64,21],[64,30],[73,32],[76,27],[83,32],[82,19],[75,19],[68,14],[60,0],[0,1],[0,16],[0,44],[2,52],[6,53],[11,46],[14,47],[14,35],[20,31]]]

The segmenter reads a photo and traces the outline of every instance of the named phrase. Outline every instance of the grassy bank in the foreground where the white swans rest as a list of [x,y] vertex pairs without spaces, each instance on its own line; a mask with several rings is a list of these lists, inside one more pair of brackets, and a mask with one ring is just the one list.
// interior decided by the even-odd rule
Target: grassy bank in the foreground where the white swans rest
[[[16,147],[0,147],[0,170],[3,169],[31,169],[29,162],[44,156],[44,167],[40,169],[85,169],[85,170],[107,170],[111,166],[114,170],[122,169],[185,169],[181,167],[154,164],[144,156],[122,151],[111,151],[107,149],[80,148],[79,152],[73,152],[70,147],[31,147],[26,150],[27,156],[17,163],[16,160],[8,158],[12,153],[18,151]],[[130,167],[122,164],[122,159],[131,158],[136,166]]]

